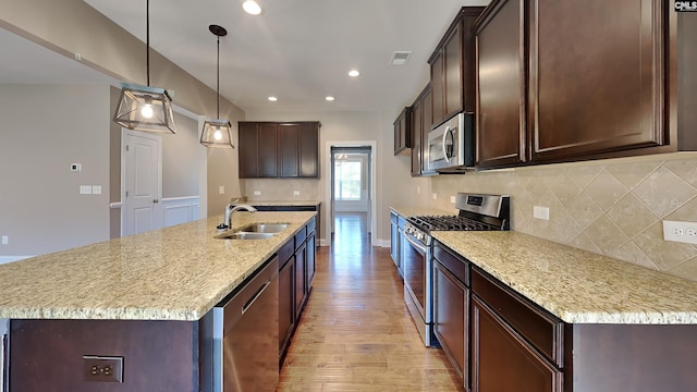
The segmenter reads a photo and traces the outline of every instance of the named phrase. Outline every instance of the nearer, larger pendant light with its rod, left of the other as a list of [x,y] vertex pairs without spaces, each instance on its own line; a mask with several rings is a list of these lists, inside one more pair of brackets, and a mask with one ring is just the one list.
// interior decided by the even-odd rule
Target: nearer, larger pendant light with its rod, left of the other
[[147,86],[121,84],[121,97],[113,121],[129,130],[176,133],[172,97],[164,88],[150,87],[150,1],[146,0]]

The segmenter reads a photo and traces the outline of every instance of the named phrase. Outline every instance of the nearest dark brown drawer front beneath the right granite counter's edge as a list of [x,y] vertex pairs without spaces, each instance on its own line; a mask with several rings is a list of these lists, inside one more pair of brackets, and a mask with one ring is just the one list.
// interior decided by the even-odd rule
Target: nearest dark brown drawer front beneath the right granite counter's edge
[[564,328],[561,320],[474,268],[472,291],[540,354],[563,368]]

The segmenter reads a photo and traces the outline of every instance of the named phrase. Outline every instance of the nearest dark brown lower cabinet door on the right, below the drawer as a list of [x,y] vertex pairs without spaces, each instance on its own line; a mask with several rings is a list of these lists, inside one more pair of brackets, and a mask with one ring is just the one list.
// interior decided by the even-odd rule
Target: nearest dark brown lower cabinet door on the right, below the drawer
[[561,392],[563,373],[477,296],[472,297],[472,391]]

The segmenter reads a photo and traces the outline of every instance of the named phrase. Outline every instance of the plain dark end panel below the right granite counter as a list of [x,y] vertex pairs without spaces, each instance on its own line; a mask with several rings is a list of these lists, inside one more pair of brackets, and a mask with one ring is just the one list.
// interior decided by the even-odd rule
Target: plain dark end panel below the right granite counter
[[[697,326],[567,324],[566,392],[697,391]],[[573,346],[573,350],[570,350]],[[573,356],[573,357],[572,357]]]

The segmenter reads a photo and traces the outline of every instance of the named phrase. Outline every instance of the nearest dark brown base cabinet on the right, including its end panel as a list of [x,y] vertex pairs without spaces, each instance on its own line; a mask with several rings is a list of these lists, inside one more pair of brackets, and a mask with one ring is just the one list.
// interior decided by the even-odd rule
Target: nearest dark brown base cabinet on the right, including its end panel
[[695,324],[565,323],[475,267],[470,290],[472,392],[697,391]]

